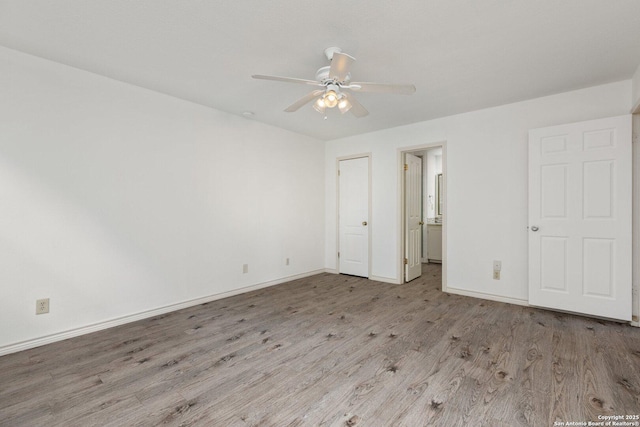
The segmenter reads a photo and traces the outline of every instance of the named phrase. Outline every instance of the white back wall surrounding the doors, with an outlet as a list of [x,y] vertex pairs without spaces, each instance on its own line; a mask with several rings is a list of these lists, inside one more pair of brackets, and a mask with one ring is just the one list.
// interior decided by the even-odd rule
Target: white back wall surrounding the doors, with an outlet
[[[449,291],[527,299],[527,144],[538,127],[628,114],[631,81],[475,111],[326,144],[326,266],[335,269],[335,158],[372,154],[372,275],[399,282],[399,149],[446,141]],[[492,261],[502,278],[492,279]]]

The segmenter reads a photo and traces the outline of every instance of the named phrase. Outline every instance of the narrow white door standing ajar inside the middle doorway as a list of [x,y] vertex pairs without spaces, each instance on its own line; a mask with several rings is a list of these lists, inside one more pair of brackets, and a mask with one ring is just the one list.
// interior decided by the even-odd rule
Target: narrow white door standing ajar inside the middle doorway
[[422,274],[422,159],[405,154],[405,280]]

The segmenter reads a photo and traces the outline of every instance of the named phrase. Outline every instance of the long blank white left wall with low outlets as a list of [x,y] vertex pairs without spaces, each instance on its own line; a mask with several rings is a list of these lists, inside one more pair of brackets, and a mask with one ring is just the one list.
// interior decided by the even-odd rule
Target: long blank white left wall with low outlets
[[0,79],[0,353],[324,267],[321,141],[4,48]]

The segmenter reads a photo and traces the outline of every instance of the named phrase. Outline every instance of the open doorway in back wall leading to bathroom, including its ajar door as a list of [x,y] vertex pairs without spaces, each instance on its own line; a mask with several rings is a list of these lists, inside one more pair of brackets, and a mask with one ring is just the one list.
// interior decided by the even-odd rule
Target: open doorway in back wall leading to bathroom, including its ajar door
[[444,142],[399,150],[401,283],[425,268],[446,266],[446,174]]

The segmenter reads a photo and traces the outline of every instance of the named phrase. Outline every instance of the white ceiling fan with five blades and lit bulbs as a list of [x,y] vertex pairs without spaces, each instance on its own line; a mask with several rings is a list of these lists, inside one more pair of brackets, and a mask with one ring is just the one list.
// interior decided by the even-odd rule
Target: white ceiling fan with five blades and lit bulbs
[[[377,93],[399,93],[410,95],[416,91],[414,85],[398,85],[372,82],[352,82],[349,69],[356,60],[353,56],[342,53],[338,47],[325,49],[324,54],[331,62],[331,65],[322,67],[316,72],[316,80],[295,79],[292,77],[264,76],[254,74],[254,79],[275,80],[286,83],[298,83],[309,86],[317,86],[313,92],[303,96],[284,111],[292,113],[311,101],[313,108],[319,113],[325,113],[327,108],[338,107],[342,114],[351,111],[356,117],[364,117],[369,112],[358,102],[350,91],[354,92],[377,92]],[[325,116],[326,118],[326,116]]]

